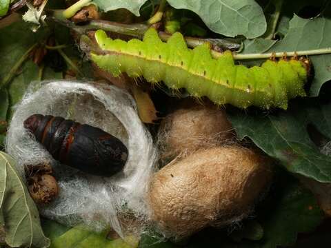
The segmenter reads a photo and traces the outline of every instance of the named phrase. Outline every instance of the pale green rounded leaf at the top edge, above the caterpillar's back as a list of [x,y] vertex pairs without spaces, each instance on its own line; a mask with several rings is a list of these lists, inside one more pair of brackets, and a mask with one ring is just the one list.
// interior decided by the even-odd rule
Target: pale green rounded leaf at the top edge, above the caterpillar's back
[[263,10],[254,0],[168,0],[168,3],[174,8],[192,10],[210,30],[227,37],[243,34],[252,39],[267,28]]

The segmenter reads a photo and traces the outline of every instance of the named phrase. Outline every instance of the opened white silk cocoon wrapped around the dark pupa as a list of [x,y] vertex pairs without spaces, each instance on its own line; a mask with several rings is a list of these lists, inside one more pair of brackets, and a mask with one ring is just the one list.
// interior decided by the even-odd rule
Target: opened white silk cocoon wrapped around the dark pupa
[[[123,172],[106,178],[60,165],[23,127],[32,114],[50,114],[100,127],[128,147]],[[66,225],[94,230],[112,227],[121,237],[142,227],[148,216],[144,196],[157,158],[152,136],[141,123],[130,94],[112,85],[78,81],[31,83],[15,106],[6,151],[24,165],[50,161],[60,187],[59,197],[40,207],[41,214]],[[110,165],[111,166],[111,165]],[[133,222],[139,225],[133,225]]]

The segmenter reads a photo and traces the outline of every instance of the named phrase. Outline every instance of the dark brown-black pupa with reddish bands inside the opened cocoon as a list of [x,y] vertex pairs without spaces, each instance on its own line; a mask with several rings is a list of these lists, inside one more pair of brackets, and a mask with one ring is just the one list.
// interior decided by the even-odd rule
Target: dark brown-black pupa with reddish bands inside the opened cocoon
[[112,176],[126,164],[126,146],[98,127],[42,114],[28,117],[23,126],[54,159],[82,172]]

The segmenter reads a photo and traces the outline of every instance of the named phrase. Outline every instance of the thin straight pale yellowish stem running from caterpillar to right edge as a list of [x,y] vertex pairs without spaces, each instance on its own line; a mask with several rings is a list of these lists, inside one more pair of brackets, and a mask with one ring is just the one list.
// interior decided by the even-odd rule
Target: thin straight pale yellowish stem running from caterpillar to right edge
[[[246,59],[268,59],[272,56],[274,57],[282,57],[282,56],[308,56],[308,55],[319,55],[319,54],[331,54],[330,48],[321,48],[315,50],[302,50],[302,51],[294,51],[294,52],[269,52],[265,54],[233,54],[233,59],[237,60],[246,60]],[[220,52],[212,51],[212,56],[214,58],[218,58],[221,56]]]

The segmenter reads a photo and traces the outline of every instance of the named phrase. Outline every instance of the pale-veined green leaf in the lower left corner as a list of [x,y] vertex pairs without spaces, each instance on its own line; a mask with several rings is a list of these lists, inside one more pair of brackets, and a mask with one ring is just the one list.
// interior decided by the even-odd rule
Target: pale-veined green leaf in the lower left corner
[[10,247],[48,247],[38,209],[15,166],[14,159],[0,152],[0,225],[5,227],[6,242]]

